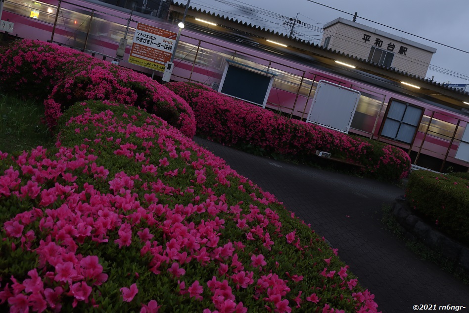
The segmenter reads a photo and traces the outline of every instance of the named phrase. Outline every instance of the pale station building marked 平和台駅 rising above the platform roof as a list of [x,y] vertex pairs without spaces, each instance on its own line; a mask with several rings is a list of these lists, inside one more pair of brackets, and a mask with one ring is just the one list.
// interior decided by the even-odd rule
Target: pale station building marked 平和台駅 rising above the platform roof
[[341,17],[326,23],[323,29],[324,48],[419,77],[426,76],[436,52],[435,48]]

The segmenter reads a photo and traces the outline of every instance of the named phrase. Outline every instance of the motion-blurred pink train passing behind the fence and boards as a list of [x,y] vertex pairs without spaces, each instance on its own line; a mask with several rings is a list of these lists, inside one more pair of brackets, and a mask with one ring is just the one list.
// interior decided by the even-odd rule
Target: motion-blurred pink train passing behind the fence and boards
[[[73,3],[5,0],[1,18],[14,22],[12,34],[20,38],[69,46],[153,76],[152,70],[126,60],[137,23],[179,31],[181,6],[173,5],[170,10],[164,7],[163,1],[158,4],[157,9],[148,10],[94,0]],[[255,28],[248,33],[245,29],[249,27],[240,31],[242,24],[236,26],[236,22],[220,17],[220,25],[211,26],[191,18],[196,14],[214,17],[189,11],[187,27],[181,31],[175,52],[172,80],[199,82],[219,89],[226,81],[227,69],[234,65],[272,78],[265,102],[256,104],[302,120],[311,108],[318,82],[326,80],[361,94],[350,133],[398,146],[409,153],[417,166],[436,171],[468,170],[469,114],[455,105],[455,102],[462,104],[467,95],[457,92],[453,95],[451,90],[444,97],[424,94],[397,83],[388,75],[380,75],[378,70],[360,71],[333,65],[331,60],[318,57],[318,52],[292,47],[298,42],[288,41],[281,35],[264,31],[260,36]],[[123,58],[116,54],[121,38],[128,40]],[[269,38],[283,39],[288,45],[277,46],[267,42]],[[314,49],[336,59],[343,58],[339,52],[327,52],[322,47]],[[156,72],[157,79],[161,75]]]

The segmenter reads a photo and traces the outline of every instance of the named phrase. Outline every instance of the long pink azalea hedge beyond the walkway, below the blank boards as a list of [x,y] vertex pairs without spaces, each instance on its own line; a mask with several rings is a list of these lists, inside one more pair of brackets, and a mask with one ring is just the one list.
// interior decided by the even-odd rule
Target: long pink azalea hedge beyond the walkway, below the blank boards
[[387,181],[409,173],[410,157],[391,145],[288,119],[200,84],[175,82],[166,86],[192,107],[200,134],[226,145],[248,143],[268,153],[309,161],[316,150],[327,151],[364,165],[366,174]]

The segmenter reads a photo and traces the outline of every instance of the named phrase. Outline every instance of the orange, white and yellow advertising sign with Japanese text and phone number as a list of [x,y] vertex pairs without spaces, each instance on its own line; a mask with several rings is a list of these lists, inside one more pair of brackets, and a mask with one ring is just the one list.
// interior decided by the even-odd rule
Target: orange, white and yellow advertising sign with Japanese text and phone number
[[137,24],[129,63],[164,72],[171,60],[177,33],[142,23]]

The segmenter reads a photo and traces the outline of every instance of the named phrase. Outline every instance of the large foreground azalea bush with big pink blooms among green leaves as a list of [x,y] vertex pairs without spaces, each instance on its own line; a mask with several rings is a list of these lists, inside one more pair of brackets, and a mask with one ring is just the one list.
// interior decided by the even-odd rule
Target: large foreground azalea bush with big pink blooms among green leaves
[[376,312],[324,238],[154,114],[89,101],[0,153],[5,312]]

